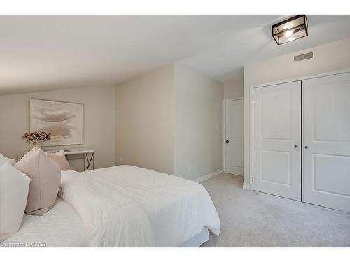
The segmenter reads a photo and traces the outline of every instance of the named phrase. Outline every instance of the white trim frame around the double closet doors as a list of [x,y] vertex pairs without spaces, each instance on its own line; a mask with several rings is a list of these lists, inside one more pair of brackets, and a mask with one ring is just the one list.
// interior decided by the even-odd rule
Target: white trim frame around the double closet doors
[[[337,71],[328,71],[324,73],[318,73],[313,75],[304,75],[297,78],[286,78],[274,82],[265,82],[262,84],[251,85],[249,87],[249,182],[244,182],[246,186],[244,188],[254,190],[254,182],[252,180],[254,170],[253,170],[253,89],[258,87],[265,87],[268,85],[279,85],[287,82],[302,81],[311,78],[322,78],[328,75],[339,75],[342,73],[350,73],[350,68],[345,68]],[[243,144],[244,145],[244,144]],[[245,169],[244,169],[245,170]]]

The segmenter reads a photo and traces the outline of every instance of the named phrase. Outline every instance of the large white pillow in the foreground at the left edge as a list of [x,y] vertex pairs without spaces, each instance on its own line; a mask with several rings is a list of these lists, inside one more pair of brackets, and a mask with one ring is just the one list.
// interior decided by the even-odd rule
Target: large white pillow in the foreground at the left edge
[[20,228],[27,204],[30,178],[0,154],[0,242]]

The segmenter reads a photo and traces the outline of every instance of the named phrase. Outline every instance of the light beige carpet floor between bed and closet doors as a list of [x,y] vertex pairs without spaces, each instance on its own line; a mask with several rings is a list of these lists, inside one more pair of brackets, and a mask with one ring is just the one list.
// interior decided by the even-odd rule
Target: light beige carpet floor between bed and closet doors
[[350,214],[241,188],[242,177],[202,182],[221,218],[203,247],[350,247]]

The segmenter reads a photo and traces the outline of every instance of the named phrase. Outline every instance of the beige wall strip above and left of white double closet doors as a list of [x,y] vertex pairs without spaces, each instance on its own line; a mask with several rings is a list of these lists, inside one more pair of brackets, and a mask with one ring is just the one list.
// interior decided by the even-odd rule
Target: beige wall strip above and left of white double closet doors
[[[287,45],[293,45],[288,43]],[[314,59],[294,62],[293,57],[314,51]],[[281,57],[244,66],[244,182],[250,177],[250,86],[350,68],[350,38],[318,45]]]

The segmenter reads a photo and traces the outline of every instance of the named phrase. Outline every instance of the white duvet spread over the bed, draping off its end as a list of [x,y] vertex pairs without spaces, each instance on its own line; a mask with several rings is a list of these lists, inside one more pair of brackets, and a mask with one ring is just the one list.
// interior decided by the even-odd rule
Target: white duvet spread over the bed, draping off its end
[[221,223],[207,190],[135,166],[62,171],[59,196],[78,212],[92,247],[178,247]]

